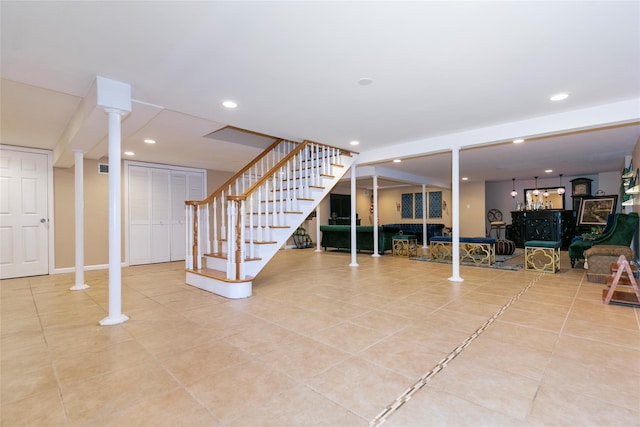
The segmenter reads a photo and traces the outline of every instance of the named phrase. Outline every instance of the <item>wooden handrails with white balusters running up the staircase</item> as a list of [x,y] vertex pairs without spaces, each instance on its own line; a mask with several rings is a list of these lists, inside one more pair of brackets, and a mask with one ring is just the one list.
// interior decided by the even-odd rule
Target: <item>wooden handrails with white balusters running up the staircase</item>
[[186,268],[202,268],[204,253],[226,252],[227,279],[245,279],[256,244],[276,243],[273,229],[288,228],[286,214],[301,213],[299,201],[311,199],[341,151],[310,141],[277,141],[207,199],[186,202]]

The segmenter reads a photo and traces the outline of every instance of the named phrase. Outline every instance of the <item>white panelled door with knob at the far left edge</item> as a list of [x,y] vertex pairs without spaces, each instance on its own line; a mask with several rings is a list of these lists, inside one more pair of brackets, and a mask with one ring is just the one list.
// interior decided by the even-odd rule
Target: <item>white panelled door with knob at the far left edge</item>
[[0,279],[49,273],[48,155],[0,150]]

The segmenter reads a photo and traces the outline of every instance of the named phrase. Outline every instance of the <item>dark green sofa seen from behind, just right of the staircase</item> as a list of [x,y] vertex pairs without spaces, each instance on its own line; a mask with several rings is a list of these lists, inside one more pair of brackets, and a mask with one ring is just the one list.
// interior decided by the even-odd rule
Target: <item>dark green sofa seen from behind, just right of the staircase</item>
[[[383,254],[392,249],[392,238],[398,234],[398,227],[378,227],[378,252]],[[320,246],[327,248],[351,249],[350,225],[321,225],[322,240]],[[373,226],[356,226],[356,249],[358,251],[373,251]]]

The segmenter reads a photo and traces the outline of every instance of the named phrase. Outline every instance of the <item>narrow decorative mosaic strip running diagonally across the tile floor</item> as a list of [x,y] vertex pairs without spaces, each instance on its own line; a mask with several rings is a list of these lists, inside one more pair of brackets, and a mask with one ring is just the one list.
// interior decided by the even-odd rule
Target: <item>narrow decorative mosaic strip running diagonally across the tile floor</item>
[[462,343],[460,343],[458,347],[454,348],[453,351],[451,351],[451,353],[449,353],[442,360],[440,360],[436,364],[436,366],[433,367],[433,369],[431,369],[429,372],[427,372],[422,377],[420,377],[415,384],[413,384],[411,387],[405,390],[405,392],[402,393],[400,396],[398,396],[396,400],[394,400],[392,403],[387,405],[387,407],[382,412],[380,412],[373,420],[369,422],[369,426],[372,427],[372,426],[382,425],[389,416],[391,416],[394,412],[396,412],[402,405],[404,405],[409,400],[411,400],[411,397],[418,390],[420,390],[425,385],[427,385],[427,383],[436,374],[438,374],[438,372],[442,371],[449,364],[449,362],[451,362],[453,359],[458,357],[458,355],[462,353],[462,351],[465,348],[467,348],[469,344],[471,344],[476,338],[478,338],[493,322],[496,321],[496,319],[498,319],[498,317],[502,315],[502,313],[507,311],[507,309],[511,307],[513,303],[515,303],[518,299],[520,299],[520,297],[524,295],[524,293],[527,292],[531,287],[533,287],[533,285],[535,285],[542,277],[544,277],[544,275],[545,275],[544,273],[541,273],[538,276],[534,277],[533,280],[529,282],[527,286],[525,286],[516,295],[511,297],[511,299],[505,305],[503,305],[498,311],[496,311],[495,314],[489,318],[489,320],[487,320],[482,326],[476,329],[474,333],[472,333],[464,341],[462,341]]

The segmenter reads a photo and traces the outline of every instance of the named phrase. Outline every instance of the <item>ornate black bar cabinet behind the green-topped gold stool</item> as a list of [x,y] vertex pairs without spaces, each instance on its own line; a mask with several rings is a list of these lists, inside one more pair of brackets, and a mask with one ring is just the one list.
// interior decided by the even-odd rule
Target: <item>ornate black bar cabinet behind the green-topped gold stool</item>
[[575,236],[576,218],[572,210],[511,212],[511,240],[524,247],[527,240],[560,241],[568,248]]

